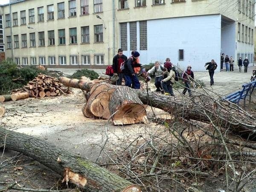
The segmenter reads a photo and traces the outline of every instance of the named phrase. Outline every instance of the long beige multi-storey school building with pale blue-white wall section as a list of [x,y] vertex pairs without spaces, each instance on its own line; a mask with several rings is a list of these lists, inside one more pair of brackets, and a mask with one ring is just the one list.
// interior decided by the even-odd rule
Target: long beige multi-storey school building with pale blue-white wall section
[[0,58],[105,68],[119,48],[140,62],[205,71],[220,55],[253,62],[252,0],[11,0],[0,6]]

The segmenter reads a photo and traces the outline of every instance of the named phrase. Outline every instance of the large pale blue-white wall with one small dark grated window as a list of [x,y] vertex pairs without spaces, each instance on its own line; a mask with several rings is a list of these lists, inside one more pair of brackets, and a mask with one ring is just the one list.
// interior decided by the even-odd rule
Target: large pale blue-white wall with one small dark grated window
[[[141,63],[165,61],[194,71],[205,71],[204,64],[214,59],[218,67],[221,52],[221,15],[204,15],[148,20],[147,59]],[[184,61],[178,61],[178,49],[184,49]],[[218,70],[217,70],[218,71]]]

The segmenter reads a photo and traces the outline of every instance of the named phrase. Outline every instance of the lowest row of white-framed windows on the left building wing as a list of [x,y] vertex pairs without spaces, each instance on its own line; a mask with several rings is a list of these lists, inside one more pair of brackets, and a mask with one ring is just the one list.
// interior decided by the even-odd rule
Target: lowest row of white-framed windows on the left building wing
[[[94,64],[96,65],[104,65],[104,55],[94,55],[95,62]],[[46,61],[45,56],[40,56],[38,57],[38,61],[36,57],[30,57],[30,63],[28,61],[27,57],[22,57],[22,63],[20,63],[20,58],[15,57],[15,63],[17,65],[36,65],[36,64],[41,64],[41,65],[56,65],[56,58],[55,56],[48,56],[48,62]],[[70,55],[69,56],[69,64],[70,65],[90,65],[91,60],[90,60],[90,55],[81,55],[81,60],[79,62],[79,56],[78,55]],[[67,58],[65,55],[59,55],[58,56],[58,64],[59,65],[67,65]]]

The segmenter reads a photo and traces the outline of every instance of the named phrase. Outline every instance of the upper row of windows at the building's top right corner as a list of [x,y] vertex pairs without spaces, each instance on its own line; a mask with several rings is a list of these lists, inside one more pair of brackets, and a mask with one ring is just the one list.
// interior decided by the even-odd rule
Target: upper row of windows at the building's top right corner
[[253,2],[253,0],[238,0],[238,10],[244,15],[254,19],[255,2]]

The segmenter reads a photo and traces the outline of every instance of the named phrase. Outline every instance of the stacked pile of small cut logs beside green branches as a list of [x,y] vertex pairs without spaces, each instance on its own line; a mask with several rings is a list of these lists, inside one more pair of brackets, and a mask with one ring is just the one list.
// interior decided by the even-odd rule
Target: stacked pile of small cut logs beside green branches
[[67,87],[63,87],[58,79],[39,74],[35,79],[21,89],[12,90],[12,93],[29,93],[30,97],[40,98],[45,96],[60,96],[71,93]]

